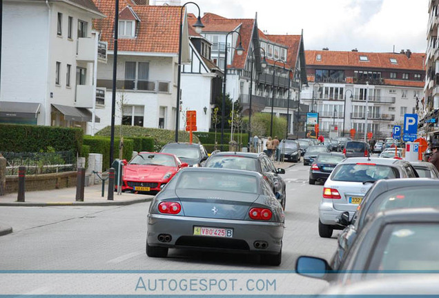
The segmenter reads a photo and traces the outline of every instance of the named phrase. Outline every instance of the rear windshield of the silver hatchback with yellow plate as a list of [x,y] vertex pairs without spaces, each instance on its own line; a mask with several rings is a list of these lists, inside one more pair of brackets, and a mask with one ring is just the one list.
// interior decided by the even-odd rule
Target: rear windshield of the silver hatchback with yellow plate
[[396,168],[375,164],[342,164],[335,168],[331,180],[347,182],[377,181],[399,178]]

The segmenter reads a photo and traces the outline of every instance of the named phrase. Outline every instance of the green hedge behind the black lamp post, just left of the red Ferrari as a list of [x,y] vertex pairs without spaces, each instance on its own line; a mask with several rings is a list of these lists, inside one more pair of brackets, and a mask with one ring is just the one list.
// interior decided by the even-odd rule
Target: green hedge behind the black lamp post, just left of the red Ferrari
[[[99,153],[102,155],[102,170],[110,168],[110,138],[107,137],[91,137],[84,136],[84,144],[90,146],[90,153]],[[119,139],[115,138],[115,151],[113,159],[119,158]],[[124,139],[124,150],[122,158],[130,160],[133,155],[134,141],[132,139]]]

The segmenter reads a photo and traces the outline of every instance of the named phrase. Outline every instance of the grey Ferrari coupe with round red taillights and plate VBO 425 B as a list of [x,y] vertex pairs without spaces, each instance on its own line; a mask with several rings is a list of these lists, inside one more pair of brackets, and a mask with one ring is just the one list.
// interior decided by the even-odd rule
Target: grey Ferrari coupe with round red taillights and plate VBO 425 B
[[284,212],[257,172],[185,168],[153,199],[146,255],[168,248],[256,253],[262,264],[282,260]]

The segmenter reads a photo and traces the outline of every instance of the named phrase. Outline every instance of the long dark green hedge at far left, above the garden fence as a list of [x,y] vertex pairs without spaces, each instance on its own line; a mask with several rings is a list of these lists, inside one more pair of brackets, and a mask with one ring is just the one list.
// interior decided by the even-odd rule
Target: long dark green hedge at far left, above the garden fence
[[23,124],[0,124],[0,151],[46,152],[55,151],[81,153],[83,131],[81,128],[32,126]]

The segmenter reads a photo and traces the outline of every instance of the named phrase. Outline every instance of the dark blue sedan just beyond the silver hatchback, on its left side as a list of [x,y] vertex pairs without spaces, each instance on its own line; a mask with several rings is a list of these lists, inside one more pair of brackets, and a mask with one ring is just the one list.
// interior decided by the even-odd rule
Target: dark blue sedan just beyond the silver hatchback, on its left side
[[331,172],[344,159],[341,153],[320,153],[309,168],[309,184],[326,181]]

